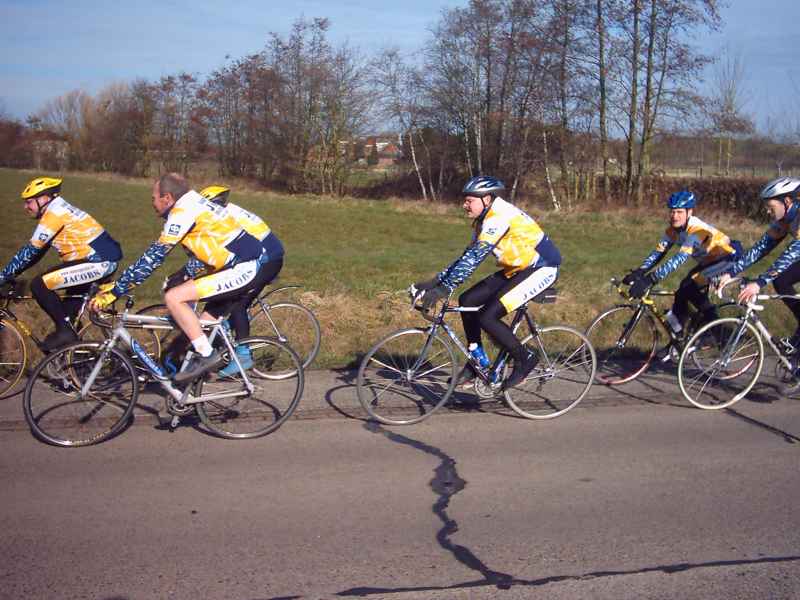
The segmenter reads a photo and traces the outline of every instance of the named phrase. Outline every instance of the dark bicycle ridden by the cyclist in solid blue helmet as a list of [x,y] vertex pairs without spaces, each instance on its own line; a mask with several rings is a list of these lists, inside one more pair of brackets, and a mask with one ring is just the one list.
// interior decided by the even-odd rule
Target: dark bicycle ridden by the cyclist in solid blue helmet
[[[642,298],[633,298],[616,277],[611,285],[625,300],[601,312],[589,324],[586,336],[597,352],[597,381],[605,385],[628,383],[647,371],[656,356],[664,362],[677,361],[686,340],[703,324],[703,315],[693,311],[680,333],[676,333],[655,298],[674,296],[674,291],[650,289]],[[734,302],[717,306],[721,316],[736,316],[741,308]],[[659,350],[661,335],[667,343]]]

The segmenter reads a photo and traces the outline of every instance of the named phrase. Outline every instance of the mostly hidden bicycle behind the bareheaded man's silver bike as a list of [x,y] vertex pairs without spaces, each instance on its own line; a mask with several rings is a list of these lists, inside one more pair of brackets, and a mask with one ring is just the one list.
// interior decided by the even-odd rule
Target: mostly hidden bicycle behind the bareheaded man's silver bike
[[[279,292],[298,289],[299,285],[285,285],[268,290],[257,297],[248,309],[250,334],[256,337],[274,337],[289,344],[297,352],[303,368],[308,368],[319,353],[322,332],[319,321],[306,306],[297,302],[275,300],[271,296]],[[141,315],[167,316],[165,304],[151,304],[140,311]],[[167,338],[170,339],[167,339]],[[163,332],[160,337],[161,350],[165,351],[174,336]]]

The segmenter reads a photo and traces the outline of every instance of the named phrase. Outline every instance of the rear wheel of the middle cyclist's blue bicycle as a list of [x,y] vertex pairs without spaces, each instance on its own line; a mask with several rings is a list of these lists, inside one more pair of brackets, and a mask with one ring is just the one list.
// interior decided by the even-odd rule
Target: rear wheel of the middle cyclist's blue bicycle
[[552,325],[522,343],[539,362],[525,381],[503,392],[511,409],[526,419],[553,419],[575,408],[597,372],[589,338],[572,327]]

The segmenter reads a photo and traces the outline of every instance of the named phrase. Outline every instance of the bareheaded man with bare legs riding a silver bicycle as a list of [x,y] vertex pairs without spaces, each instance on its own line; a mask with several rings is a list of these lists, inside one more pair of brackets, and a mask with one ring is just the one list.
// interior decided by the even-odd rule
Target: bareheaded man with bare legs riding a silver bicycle
[[187,248],[211,273],[185,281],[164,294],[170,314],[198,354],[174,376],[174,381],[182,384],[215,368],[222,360],[211,347],[190,303],[205,300],[208,316],[224,314],[240,294],[260,284],[265,275],[258,262],[263,248],[230,213],[192,190],[177,173],[155,181],[153,208],[166,220],[161,236],[110,289],[92,299],[92,306],[101,309],[111,305],[130,288],[143,283],[177,244]]

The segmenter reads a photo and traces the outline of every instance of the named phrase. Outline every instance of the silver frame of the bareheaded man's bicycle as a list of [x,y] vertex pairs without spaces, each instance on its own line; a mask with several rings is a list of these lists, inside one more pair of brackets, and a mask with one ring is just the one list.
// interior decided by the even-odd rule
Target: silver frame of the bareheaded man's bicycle
[[[223,398],[235,398],[239,396],[247,396],[253,393],[255,386],[247,377],[245,369],[242,368],[242,364],[239,362],[239,359],[236,356],[236,352],[234,351],[233,345],[231,344],[231,341],[227,333],[225,332],[225,328],[222,326],[222,320],[215,320],[215,321],[201,320],[200,324],[203,326],[204,329],[207,329],[209,327],[211,328],[211,333],[208,336],[209,342],[213,342],[217,335],[220,335],[222,337],[222,340],[225,342],[225,346],[228,349],[229,356],[236,362],[236,365],[239,367],[239,373],[242,376],[246,389],[237,392],[205,394],[200,396],[195,396],[194,394],[191,393],[190,390],[192,386],[187,386],[186,390],[184,391],[181,391],[175,386],[173,386],[172,383],[170,382],[169,377],[165,375],[161,365],[159,365],[152,358],[147,356],[147,353],[144,352],[139,343],[135,339],[133,339],[131,334],[125,328],[125,324],[137,325],[145,329],[172,329],[174,327],[172,324],[172,320],[169,317],[136,315],[136,314],[130,314],[126,310],[124,313],[122,313],[122,322],[114,327],[111,337],[105,342],[103,342],[103,352],[100,355],[100,359],[92,368],[92,371],[90,372],[89,376],[86,378],[86,381],[81,387],[82,396],[89,394],[91,386],[94,384],[97,375],[100,373],[103,360],[107,358],[108,354],[111,352],[111,349],[114,348],[116,344],[120,341],[130,352],[133,352],[138,358],[141,359],[147,371],[153,376],[153,378],[158,382],[158,384],[181,406],[198,404],[201,402],[208,402],[212,400],[221,400]],[[192,354],[193,353],[191,351],[186,353],[186,357],[184,358],[184,361],[181,365],[181,370],[183,370],[186,367]]]

